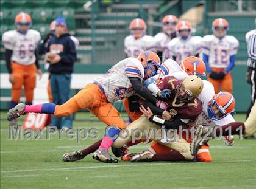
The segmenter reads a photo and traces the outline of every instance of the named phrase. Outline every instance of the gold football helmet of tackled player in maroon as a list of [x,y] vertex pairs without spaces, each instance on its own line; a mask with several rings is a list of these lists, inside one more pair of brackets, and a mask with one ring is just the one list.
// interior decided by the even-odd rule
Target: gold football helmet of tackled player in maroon
[[204,83],[196,75],[190,75],[177,86],[176,95],[179,103],[187,103],[194,100],[201,93]]

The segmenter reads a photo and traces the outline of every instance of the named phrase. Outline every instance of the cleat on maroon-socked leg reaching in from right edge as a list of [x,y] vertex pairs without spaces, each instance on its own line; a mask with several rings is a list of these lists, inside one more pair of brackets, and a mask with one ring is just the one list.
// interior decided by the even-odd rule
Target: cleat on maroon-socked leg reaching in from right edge
[[194,139],[190,144],[190,152],[192,156],[196,156],[197,151],[202,145],[213,139],[213,128],[210,126],[199,125],[196,129]]

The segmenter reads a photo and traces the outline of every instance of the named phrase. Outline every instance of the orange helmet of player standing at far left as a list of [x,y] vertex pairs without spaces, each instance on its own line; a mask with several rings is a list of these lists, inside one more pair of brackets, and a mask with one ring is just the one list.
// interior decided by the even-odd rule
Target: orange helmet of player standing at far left
[[[26,33],[27,30],[30,29],[30,27],[32,25],[31,16],[24,12],[18,13],[18,15],[16,15],[16,17],[15,17],[15,25],[19,32]],[[26,26],[24,27],[21,25],[27,25],[27,27]]]

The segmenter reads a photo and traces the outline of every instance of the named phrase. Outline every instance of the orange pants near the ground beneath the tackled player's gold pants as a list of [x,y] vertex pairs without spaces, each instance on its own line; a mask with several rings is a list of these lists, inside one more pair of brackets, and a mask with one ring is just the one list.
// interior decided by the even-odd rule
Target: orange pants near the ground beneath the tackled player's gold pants
[[[150,146],[151,149],[155,151],[156,154],[161,153],[167,153],[168,151],[171,151],[171,148],[168,148],[167,146],[163,146],[160,143],[153,142]],[[201,148],[199,148],[197,152],[197,160],[199,162],[212,162],[212,156],[209,151],[209,145],[203,145]]]

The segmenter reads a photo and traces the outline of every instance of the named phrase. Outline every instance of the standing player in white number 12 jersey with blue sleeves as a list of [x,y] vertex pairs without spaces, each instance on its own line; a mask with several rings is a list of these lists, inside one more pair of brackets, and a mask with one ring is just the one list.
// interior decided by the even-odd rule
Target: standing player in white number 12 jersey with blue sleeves
[[231,71],[235,67],[239,42],[234,36],[226,35],[228,29],[226,19],[215,19],[212,23],[213,35],[205,35],[202,39],[208,81],[213,84],[216,94],[219,91],[232,93],[233,90]]

